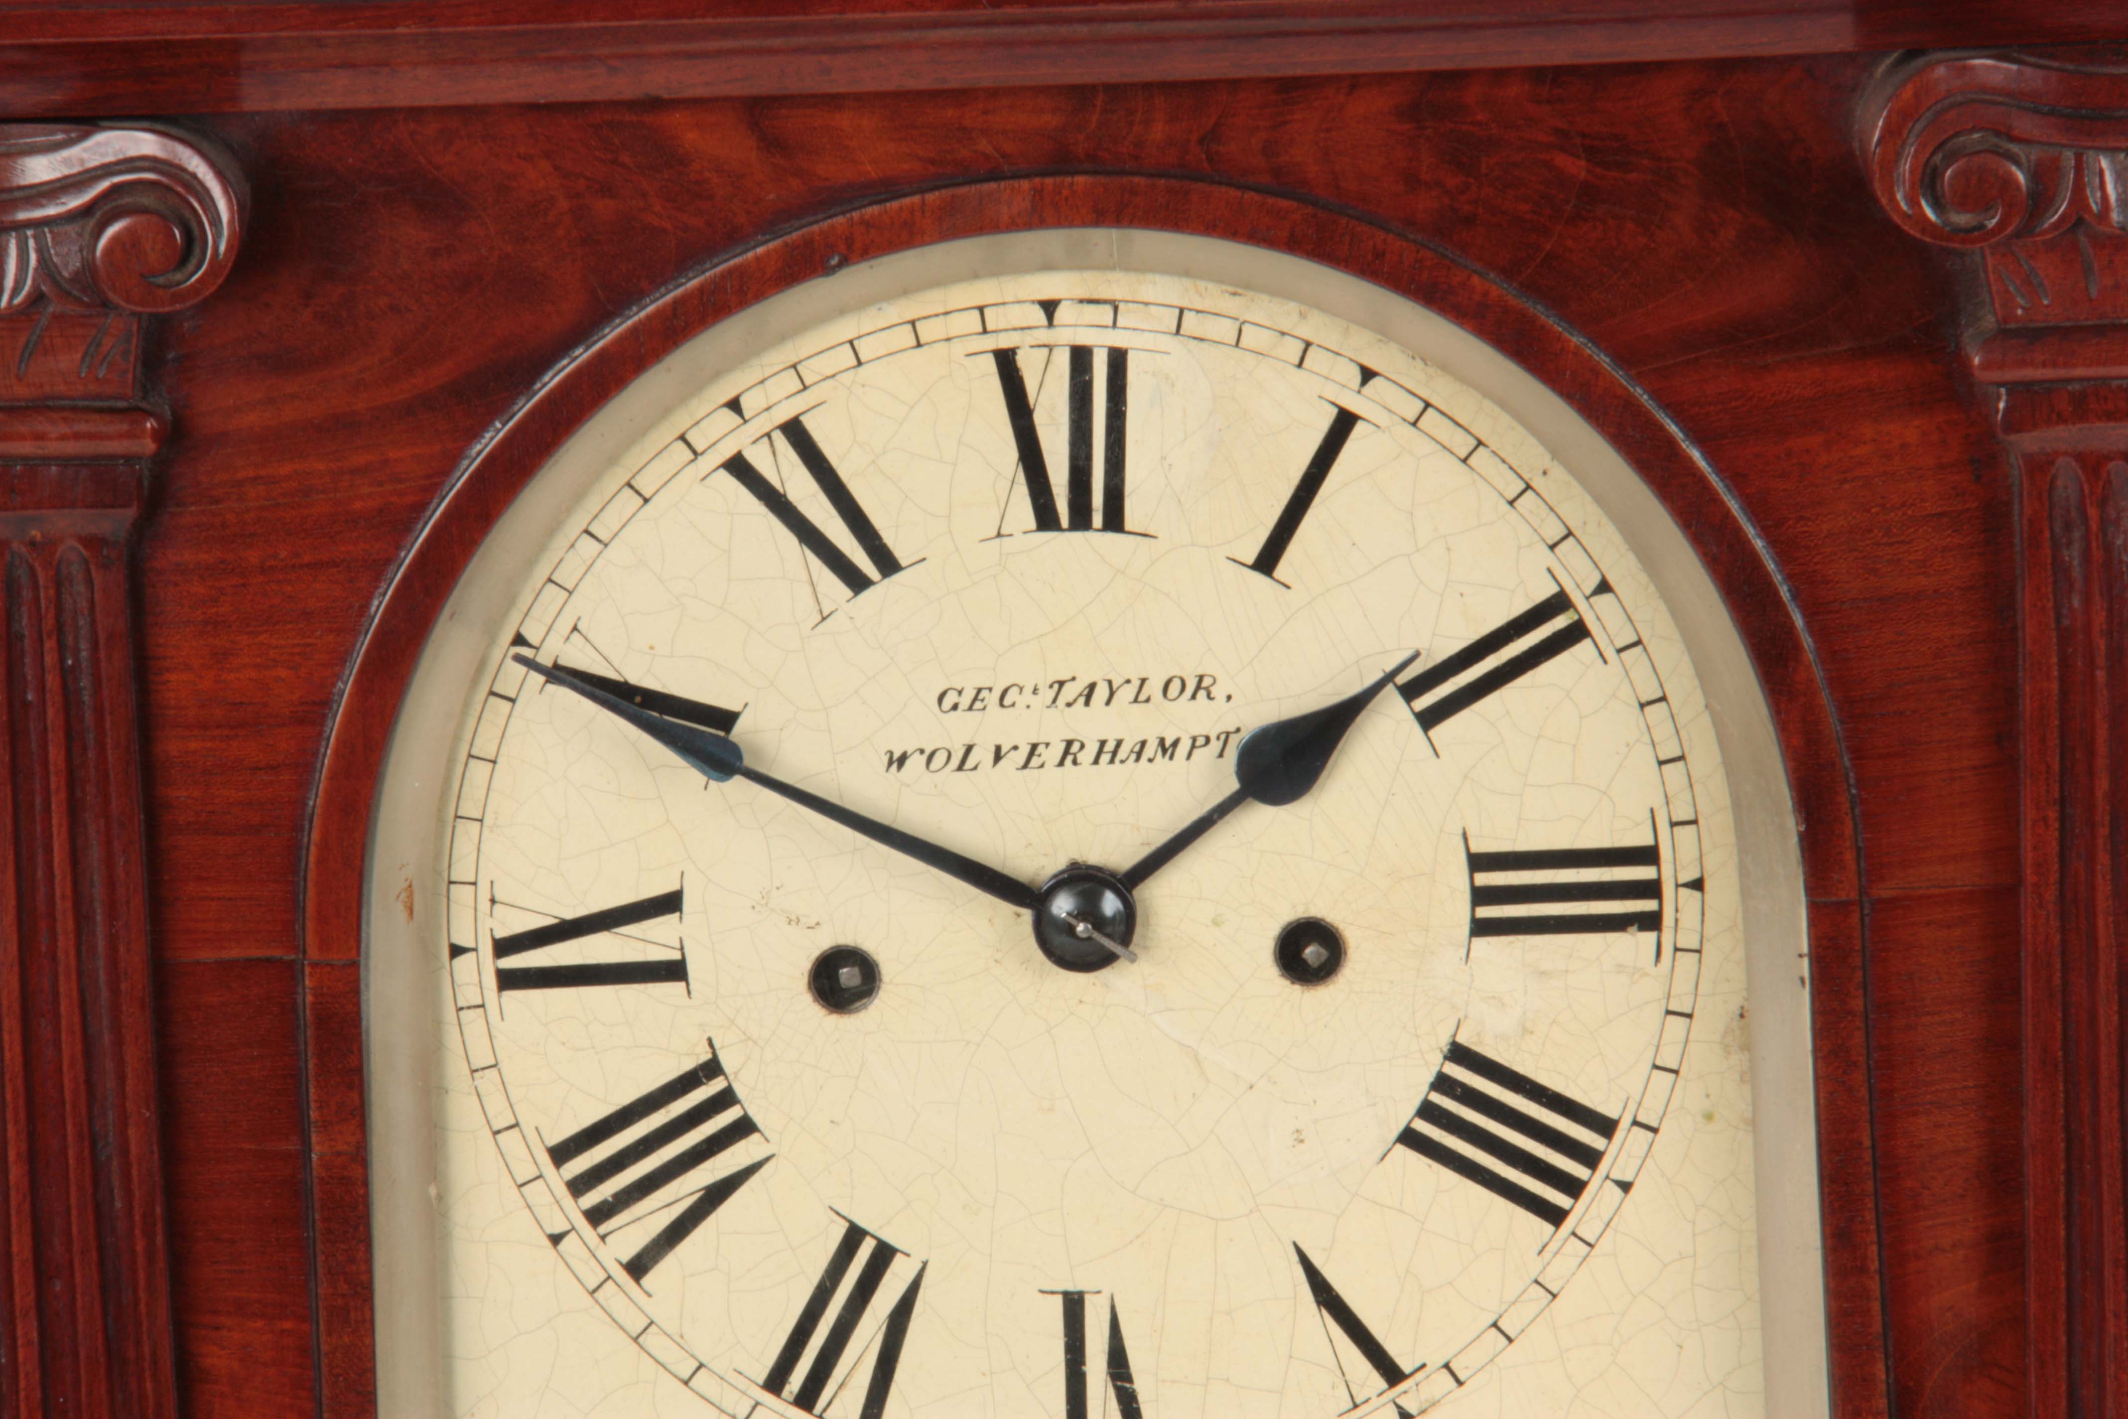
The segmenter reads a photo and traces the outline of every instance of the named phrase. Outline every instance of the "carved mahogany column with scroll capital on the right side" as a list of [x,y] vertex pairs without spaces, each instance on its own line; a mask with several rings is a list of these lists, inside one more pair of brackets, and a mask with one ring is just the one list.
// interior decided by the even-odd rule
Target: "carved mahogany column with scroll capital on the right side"
[[2128,1417],[2128,57],[1883,74],[1892,217],[1973,255],[2017,506],[2028,1413]]

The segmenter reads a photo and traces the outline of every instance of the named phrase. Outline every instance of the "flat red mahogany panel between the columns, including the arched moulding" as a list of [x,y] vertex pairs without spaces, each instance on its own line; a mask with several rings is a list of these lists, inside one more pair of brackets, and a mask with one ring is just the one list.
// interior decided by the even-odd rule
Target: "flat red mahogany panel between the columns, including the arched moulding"
[[[1849,140],[1871,70],[200,121],[249,174],[251,232],[151,355],[179,434],[138,540],[187,1413],[372,1413],[377,753],[485,525],[647,362],[626,332],[668,347],[838,262],[1090,217],[1245,234],[1483,328],[1662,496],[1743,632],[1802,825],[1834,1410],[2011,1413],[2011,504],[1954,364],[1951,281]],[[968,185],[1090,170],[1117,177]],[[468,451],[483,477],[436,513]]]

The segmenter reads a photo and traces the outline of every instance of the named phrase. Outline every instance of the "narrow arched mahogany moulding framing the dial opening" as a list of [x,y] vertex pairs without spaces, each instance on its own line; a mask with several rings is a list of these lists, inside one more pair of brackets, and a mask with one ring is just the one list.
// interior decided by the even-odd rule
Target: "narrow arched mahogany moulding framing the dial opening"
[[[1149,177],[1047,177],[960,185],[864,206],[804,226],[721,262],[632,313],[572,353],[470,457],[421,530],[370,621],[332,721],[309,832],[304,953],[353,962],[362,947],[364,845],[385,738],[413,664],[443,602],[481,536],[583,419],[615,391],[706,325],[789,285],[909,247],[1047,226],[1132,226],[1247,240],[1360,274],[1447,315],[1509,351],[1570,400],[1649,481],[1692,530],[1715,583],[1741,617],[1764,677],[1790,764],[1798,819],[1807,825],[1807,885],[1826,900],[1853,898],[1858,881],[1849,766],[1826,687],[1792,604],[1739,517],[1734,496],[1700,455],[1613,366],[1570,330],[1468,266],[1394,232],[1328,208],[1219,183]],[[1847,917],[1851,921],[1851,904]],[[1815,921],[1815,917],[1813,917]],[[1813,951],[1813,1019],[1819,1040],[1819,1157],[1826,1196],[1828,1321],[1832,1379],[1843,1419],[1883,1415],[1883,1313],[1877,1253],[1875,1145],[1868,1089],[1858,932],[1828,925]],[[317,1000],[313,998],[313,1017]],[[345,1011],[343,1004],[332,1008]],[[353,1055],[317,1059],[321,1089],[336,1100],[319,1174],[340,1179],[317,1198],[317,1225],[360,1204],[360,1149],[349,1128],[360,1104]],[[368,1251],[358,1230],[319,1257],[319,1285],[362,1296]],[[368,1313],[323,1317],[326,1370],[349,1389],[328,1413],[364,1413]]]

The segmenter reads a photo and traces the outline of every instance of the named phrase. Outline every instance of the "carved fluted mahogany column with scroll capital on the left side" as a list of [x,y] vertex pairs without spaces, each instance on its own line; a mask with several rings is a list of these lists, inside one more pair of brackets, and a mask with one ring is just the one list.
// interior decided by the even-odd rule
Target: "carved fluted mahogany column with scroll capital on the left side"
[[128,547],[140,323],[236,255],[166,132],[0,126],[0,1419],[177,1413]]

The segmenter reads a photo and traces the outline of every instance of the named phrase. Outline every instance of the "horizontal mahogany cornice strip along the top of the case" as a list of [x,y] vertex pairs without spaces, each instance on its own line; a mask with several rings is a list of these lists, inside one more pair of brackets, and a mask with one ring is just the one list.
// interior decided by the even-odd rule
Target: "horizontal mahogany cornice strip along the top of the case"
[[232,113],[2047,45],[2115,0],[0,4],[0,113]]

